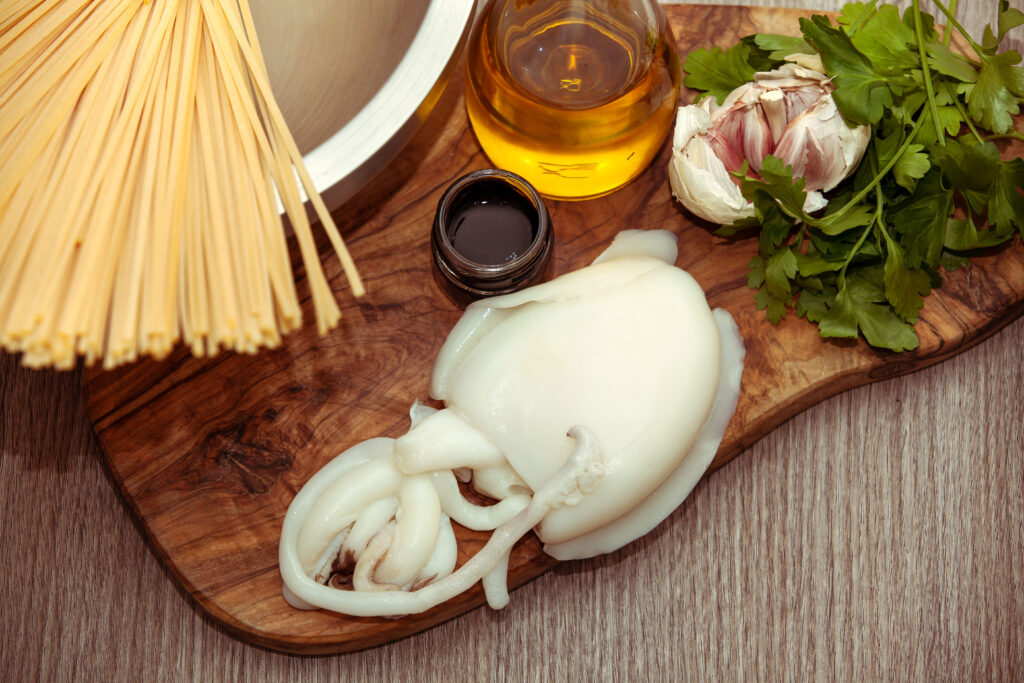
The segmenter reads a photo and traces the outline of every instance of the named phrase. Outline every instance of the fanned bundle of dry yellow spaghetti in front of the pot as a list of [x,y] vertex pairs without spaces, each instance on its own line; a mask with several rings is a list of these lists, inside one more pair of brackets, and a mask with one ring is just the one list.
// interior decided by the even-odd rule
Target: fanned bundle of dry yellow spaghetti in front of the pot
[[247,0],[0,3],[0,343],[29,366],[255,351],[338,304]]

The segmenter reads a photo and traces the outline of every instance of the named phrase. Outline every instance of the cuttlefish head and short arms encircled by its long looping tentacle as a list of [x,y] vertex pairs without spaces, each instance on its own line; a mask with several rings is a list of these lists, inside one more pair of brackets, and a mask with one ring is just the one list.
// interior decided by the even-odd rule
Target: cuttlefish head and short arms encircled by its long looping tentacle
[[351,571],[355,590],[409,590],[427,574],[451,573],[446,561],[435,561],[440,568],[433,573],[425,569],[442,524],[451,532],[450,518],[486,530],[529,505],[522,494],[488,507],[471,504],[452,468],[497,470],[505,466],[502,454],[453,411],[417,404],[410,417],[404,436],[358,444],[339,457],[345,467],[309,514],[315,531],[307,526],[299,536],[300,557],[317,582]]

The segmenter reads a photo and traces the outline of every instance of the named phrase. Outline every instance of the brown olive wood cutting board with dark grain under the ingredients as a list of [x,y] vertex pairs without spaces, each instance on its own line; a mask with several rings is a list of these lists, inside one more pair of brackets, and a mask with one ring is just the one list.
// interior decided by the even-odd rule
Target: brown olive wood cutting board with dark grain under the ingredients
[[[666,12],[681,55],[759,31],[796,33],[805,13],[693,5]],[[1019,156],[1019,147],[1006,154]],[[792,313],[774,327],[755,309],[746,287],[757,241],[716,238],[713,226],[686,214],[671,196],[668,159],[667,141],[625,189],[549,203],[556,236],[551,275],[589,263],[624,228],[679,234],[679,265],[696,278],[712,306],[732,313],[746,341],[739,407],[713,469],[825,397],[947,358],[1024,311],[1024,248],[1014,241],[945,274],[922,311],[916,351],[824,341]],[[87,373],[88,413],[113,479],[174,578],[238,636],[297,653],[348,651],[483,604],[477,586],[399,620],[293,609],[281,595],[278,540],[303,482],[357,441],[403,433],[410,404],[428,398],[434,356],[461,313],[432,279],[431,219],[449,183],[488,165],[467,125],[460,73],[413,142],[336,212],[369,292],[353,300],[337,260],[327,260],[343,307],[339,329],[318,337],[307,325],[281,348],[257,355],[198,359],[178,349],[160,362]],[[304,282],[299,285],[301,291]],[[304,306],[311,321],[308,294]],[[457,535],[460,563],[486,539],[461,527]],[[512,555],[510,586],[554,564],[529,535]]]

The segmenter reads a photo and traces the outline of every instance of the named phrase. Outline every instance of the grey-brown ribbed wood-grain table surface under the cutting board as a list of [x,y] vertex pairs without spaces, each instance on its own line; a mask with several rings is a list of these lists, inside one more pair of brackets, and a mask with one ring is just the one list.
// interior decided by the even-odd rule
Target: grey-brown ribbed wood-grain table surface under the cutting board
[[[994,5],[957,15],[980,35]],[[161,566],[80,373],[0,355],[0,680],[1021,680],[1022,367],[1024,319],[796,417],[653,533],[502,611],[300,657],[227,635]]]

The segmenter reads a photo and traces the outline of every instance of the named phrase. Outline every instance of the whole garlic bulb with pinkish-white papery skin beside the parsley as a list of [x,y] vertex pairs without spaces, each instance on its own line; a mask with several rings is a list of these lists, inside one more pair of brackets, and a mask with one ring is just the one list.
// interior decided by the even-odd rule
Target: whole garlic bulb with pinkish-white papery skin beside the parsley
[[756,74],[717,106],[714,97],[681,106],[676,116],[669,178],[683,206],[707,220],[729,224],[754,215],[754,206],[730,175],[750,163],[761,170],[772,155],[806,180],[804,210],[821,209],[821,191],[857,167],[870,129],[850,128],[831,98],[835,89],[813,62],[786,63]]

